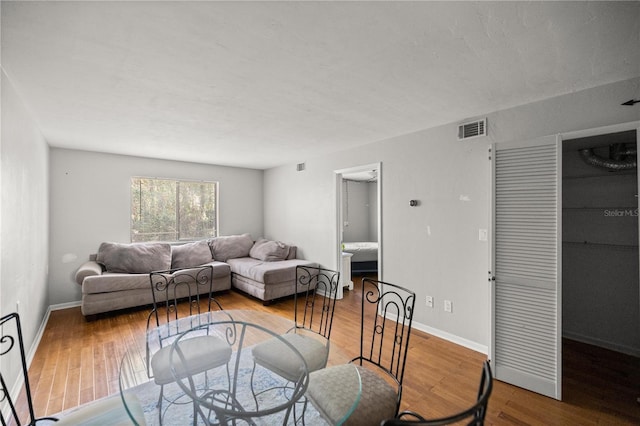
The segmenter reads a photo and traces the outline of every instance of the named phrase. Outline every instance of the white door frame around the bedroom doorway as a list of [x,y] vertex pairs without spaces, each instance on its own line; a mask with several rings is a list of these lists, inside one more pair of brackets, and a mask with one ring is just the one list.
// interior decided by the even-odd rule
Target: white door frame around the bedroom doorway
[[344,218],[342,217],[343,211],[343,191],[342,191],[342,176],[348,173],[357,173],[357,172],[365,172],[369,170],[376,170],[378,172],[378,180],[377,180],[377,189],[376,193],[378,196],[378,205],[377,205],[377,214],[378,214],[378,279],[383,280],[383,271],[382,271],[382,252],[383,252],[383,244],[382,244],[382,163],[370,163],[364,164],[361,166],[353,166],[345,169],[334,170],[336,176],[336,236],[334,241],[335,247],[335,259],[336,265],[338,265],[337,269],[342,274],[342,236],[344,234]]

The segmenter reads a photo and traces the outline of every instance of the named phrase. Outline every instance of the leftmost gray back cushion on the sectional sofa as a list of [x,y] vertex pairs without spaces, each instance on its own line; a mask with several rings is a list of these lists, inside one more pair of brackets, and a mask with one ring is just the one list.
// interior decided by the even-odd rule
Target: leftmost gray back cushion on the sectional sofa
[[108,272],[145,274],[171,268],[167,243],[102,243],[96,261]]

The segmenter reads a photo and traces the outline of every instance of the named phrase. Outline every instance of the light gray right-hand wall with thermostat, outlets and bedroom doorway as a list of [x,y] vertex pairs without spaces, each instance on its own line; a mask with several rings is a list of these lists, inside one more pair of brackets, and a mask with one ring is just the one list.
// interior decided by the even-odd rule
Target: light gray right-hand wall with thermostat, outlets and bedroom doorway
[[[383,279],[417,293],[419,327],[479,350],[489,345],[491,143],[640,119],[640,78],[488,113],[489,136],[456,140],[456,124],[416,132],[265,172],[265,231],[295,241],[305,258],[336,268],[334,170],[382,163]],[[462,118],[461,118],[462,119]],[[409,200],[420,201],[410,207]],[[425,296],[435,307],[425,306]],[[453,301],[445,313],[443,300]]]

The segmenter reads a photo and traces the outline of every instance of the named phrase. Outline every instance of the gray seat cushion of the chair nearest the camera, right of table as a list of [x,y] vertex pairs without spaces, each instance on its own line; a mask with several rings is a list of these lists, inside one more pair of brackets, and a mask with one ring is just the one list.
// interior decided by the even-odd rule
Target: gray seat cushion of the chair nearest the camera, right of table
[[[345,378],[352,364],[338,365],[315,371],[309,376],[307,396],[318,412],[331,424],[337,424],[352,405],[355,385]],[[350,426],[379,425],[396,415],[396,389],[376,372],[357,366],[362,392],[353,414],[344,422]]]

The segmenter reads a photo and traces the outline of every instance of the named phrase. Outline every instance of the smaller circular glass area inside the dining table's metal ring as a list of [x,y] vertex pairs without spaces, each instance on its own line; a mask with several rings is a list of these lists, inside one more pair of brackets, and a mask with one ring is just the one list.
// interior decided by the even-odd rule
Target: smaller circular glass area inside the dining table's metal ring
[[[253,349],[271,341],[293,377],[285,379],[254,361]],[[171,345],[169,365],[198,416],[211,424],[256,417],[265,424],[287,424],[309,384],[307,363],[291,343],[261,325],[236,319],[180,334]]]

